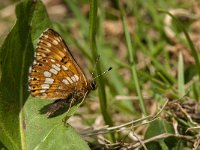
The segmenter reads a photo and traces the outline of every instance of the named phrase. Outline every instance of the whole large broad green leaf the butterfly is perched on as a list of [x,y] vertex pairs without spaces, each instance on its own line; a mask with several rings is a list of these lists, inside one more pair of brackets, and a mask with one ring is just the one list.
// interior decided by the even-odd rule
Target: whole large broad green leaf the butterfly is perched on
[[40,34],[51,26],[44,5],[39,0],[22,1],[16,6],[16,16],[0,49],[0,143],[15,150],[89,149],[71,127],[64,126],[63,115],[47,119],[40,114],[52,101],[28,99],[34,47]]

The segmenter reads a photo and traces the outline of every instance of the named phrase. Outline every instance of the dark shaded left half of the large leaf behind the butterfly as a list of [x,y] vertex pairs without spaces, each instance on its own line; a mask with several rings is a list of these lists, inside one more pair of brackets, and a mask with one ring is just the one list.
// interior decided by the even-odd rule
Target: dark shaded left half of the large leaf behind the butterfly
[[28,64],[33,55],[30,18],[34,9],[31,1],[17,5],[17,22],[0,50],[0,140],[8,149],[22,149],[19,112],[28,97]]

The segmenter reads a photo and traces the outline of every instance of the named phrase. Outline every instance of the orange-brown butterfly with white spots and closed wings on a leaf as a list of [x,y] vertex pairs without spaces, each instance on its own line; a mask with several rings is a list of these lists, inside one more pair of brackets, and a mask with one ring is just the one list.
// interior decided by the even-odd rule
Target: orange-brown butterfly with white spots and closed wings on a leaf
[[33,97],[56,100],[47,115],[51,117],[70,99],[80,101],[95,89],[94,78],[86,79],[61,36],[53,29],[45,30],[30,67],[29,90]]

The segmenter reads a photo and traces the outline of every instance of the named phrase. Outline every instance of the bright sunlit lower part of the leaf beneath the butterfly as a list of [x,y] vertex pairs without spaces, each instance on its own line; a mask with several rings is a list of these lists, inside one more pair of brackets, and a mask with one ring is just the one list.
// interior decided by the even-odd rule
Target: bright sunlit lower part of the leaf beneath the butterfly
[[40,114],[41,106],[49,103],[51,101],[30,97],[24,106],[23,126],[27,149],[89,149],[86,142],[70,126],[64,125],[62,119],[65,114],[50,119]]

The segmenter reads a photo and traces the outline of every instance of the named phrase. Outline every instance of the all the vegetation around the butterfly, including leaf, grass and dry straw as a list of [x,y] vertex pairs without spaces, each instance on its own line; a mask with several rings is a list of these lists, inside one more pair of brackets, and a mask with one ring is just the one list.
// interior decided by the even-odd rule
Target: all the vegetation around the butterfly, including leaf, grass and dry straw
[[[0,2],[0,149],[198,149],[199,1]],[[113,68],[65,123],[66,113],[41,114],[50,102],[28,92],[46,28],[88,78]]]

